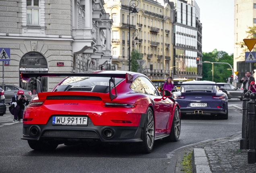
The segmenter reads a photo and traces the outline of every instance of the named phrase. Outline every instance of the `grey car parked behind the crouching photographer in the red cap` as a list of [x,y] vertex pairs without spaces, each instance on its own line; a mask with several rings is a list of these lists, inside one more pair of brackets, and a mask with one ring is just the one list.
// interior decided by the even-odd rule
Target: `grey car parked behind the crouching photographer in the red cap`
[[[0,85],[2,88],[3,86]],[[28,101],[32,99],[32,93],[29,90],[22,89],[21,87],[17,87],[16,85],[4,85],[4,96],[5,96],[5,103],[10,105],[10,100],[12,99],[13,95],[17,95],[19,90],[24,91],[24,95],[27,97]]]

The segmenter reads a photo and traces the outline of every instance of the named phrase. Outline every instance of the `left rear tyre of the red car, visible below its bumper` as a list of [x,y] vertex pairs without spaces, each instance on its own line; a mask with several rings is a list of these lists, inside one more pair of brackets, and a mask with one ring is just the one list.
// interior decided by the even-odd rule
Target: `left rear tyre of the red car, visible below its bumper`
[[52,151],[58,147],[56,143],[44,143],[42,141],[27,141],[29,147],[37,151]]

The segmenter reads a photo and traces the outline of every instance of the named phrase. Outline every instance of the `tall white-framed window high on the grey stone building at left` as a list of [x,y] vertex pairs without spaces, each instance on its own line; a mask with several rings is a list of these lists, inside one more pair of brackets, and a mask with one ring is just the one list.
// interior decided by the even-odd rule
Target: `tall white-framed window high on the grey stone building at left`
[[27,24],[39,25],[39,0],[27,0]]

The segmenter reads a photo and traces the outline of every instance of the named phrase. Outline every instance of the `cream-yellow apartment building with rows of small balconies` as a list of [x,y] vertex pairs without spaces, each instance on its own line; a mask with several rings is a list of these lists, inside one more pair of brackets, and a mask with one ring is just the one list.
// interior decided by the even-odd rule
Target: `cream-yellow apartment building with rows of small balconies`
[[105,11],[113,20],[111,50],[115,69],[129,69],[130,43],[131,51],[136,48],[145,60],[144,74],[151,79],[165,79],[170,75],[169,69],[173,66],[171,4],[165,0],[105,2]]

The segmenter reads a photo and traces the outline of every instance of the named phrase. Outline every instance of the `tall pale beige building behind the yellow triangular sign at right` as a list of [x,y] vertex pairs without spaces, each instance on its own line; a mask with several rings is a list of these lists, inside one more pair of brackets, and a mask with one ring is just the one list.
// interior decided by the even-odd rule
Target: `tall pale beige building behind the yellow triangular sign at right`
[[[243,39],[247,38],[248,27],[256,26],[256,1],[255,0],[235,0],[234,4],[234,71],[238,71],[238,79],[240,80],[245,76],[247,71],[255,75],[254,63],[245,62],[245,52],[249,52],[247,46],[237,44],[244,42]],[[254,50],[252,50],[254,51]],[[241,84],[234,83],[237,87]]]

